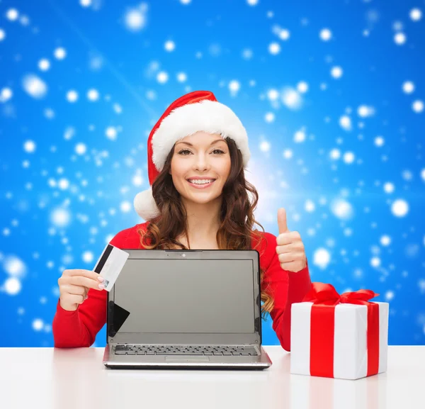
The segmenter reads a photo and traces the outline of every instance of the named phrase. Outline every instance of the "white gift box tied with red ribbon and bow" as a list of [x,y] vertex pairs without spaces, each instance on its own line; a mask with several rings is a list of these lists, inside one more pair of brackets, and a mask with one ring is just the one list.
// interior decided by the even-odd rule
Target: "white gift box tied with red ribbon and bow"
[[385,372],[389,304],[368,301],[378,295],[340,295],[331,284],[313,283],[292,304],[290,373],[359,379]]

